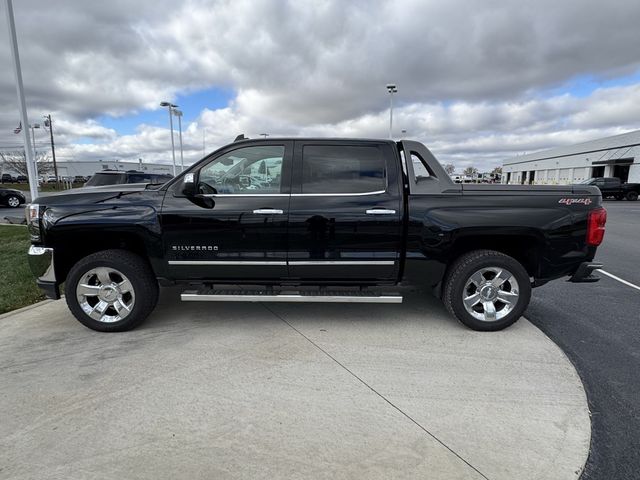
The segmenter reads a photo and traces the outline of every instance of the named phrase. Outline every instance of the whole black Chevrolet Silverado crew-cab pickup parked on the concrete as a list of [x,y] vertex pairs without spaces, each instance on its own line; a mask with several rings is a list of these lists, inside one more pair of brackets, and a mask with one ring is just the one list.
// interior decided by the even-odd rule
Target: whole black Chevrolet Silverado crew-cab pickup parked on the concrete
[[89,328],[122,331],[184,301],[397,303],[426,287],[476,330],[515,322],[532,287],[596,281],[606,211],[592,186],[455,184],[413,141],[227,145],[162,186],[40,197],[38,285]]

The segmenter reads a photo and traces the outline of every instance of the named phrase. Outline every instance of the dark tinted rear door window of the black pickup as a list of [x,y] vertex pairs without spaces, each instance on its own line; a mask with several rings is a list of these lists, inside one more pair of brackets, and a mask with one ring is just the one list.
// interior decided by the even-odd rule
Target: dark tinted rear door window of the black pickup
[[385,189],[384,157],[378,147],[303,148],[302,193],[369,193]]

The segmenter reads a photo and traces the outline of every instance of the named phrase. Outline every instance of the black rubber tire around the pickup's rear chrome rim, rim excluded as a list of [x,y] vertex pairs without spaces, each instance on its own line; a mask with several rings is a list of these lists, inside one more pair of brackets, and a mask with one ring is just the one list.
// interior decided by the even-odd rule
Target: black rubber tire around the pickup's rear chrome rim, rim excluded
[[[466,291],[466,288],[467,282],[471,281],[471,277],[474,276],[474,274],[477,274],[483,269],[494,268],[504,270],[513,276],[518,286],[518,291],[515,292],[515,294],[517,294],[517,300],[510,306],[500,303],[499,299],[493,300],[498,302],[497,313],[495,313],[496,317],[500,315],[500,312],[502,312],[504,316],[491,321],[481,320],[467,311],[463,301],[463,295],[471,295]],[[470,288],[473,289],[475,286],[471,285]],[[493,293],[497,294],[498,291],[500,291],[504,294],[505,292],[502,291],[502,288],[502,286],[497,288],[497,291]],[[507,285],[505,283],[505,289],[506,288],[510,288],[510,284]],[[489,289],[489,292],[492,292],[491,289]],[[479,289],[477,293],[480,295]],[[506,294],[511,293],[510,291],[506,291]],[[444,279],[442,301],[445,307],[449,313],[473,330],[487,332],[507,328],[522,316],[530,300],[531,282],[525,268],[513,257],[494,250],[474,250],[465,253],[453,262]],[[482,303],[482,305],[480,305],[480,303]],[[480,303],[476,308],[484,310],[484,302]],[[503,311],[502,309],[505,307],[508,308]],[[478,316],[485,316],[482,312],[475,313]]]

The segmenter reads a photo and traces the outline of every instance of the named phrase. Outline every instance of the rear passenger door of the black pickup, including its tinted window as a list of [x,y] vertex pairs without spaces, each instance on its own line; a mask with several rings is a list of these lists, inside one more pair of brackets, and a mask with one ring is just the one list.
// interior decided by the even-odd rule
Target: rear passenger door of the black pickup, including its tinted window
[[397,278],[402,218],[398,163],[391,143],[295,142],[291,279]]

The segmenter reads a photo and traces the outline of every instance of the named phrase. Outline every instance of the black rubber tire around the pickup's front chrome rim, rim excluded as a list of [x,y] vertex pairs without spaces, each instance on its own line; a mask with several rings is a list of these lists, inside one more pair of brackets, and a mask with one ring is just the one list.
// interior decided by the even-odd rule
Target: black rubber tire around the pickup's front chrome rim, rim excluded
[[[85,313],[76,290],[78,283],[83,278],[86,279],[85,275],[101,267],[116,271],[115,277],[111,274],[115,282],[117,273],[121,272],[131,284],[131,293],[127,295],[133,295],[129,298],[134,299],[130,311],[124,318],[109,323],[93,319]],[[84,326],[99,332],[124,332],[135,328],[149,316],[158,302],[158,282],[151,267],[140,256],[126,250],[103,250],[84,257],[69,272],[64,291],[71,313]],[[89,298],[91,302],[93,297]],[[98,300],[96,297],[95,301]],[[115,312],[115,308],[111,312]],[[117,318],[115,315],[114,317]]]

